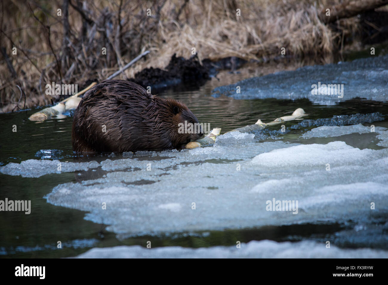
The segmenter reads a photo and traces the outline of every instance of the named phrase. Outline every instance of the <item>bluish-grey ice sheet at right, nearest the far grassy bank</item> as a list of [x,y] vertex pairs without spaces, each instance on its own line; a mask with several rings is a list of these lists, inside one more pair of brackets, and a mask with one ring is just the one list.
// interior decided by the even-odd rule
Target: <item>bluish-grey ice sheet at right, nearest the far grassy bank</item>
[[[334,105],[336,102],[360,97],[375,101],[388,101],[388,55],[374,58],[360,58],[339,64],[301,67],[295,71],[282,71],[262,77],[253,77],[227,86],[217,87],[213,96],[232,96],[235,99],[277,98],[296,100],[308,98],[320,105]],[[320,94],[312,94],[312,85],[320,84]],[[323,94],[328,88],[323,84],[339,84],[333,91],[343,94]],[[343,84],[343,85],[341,85]],[[373,86],[371,89],[370,86]],[[241,93],[237,93],[240,86]],[[330,89],[330,92],[331,89]],[[337,92],[338,93],[338,92]],[[342,98],[338,97],[343,96]]]

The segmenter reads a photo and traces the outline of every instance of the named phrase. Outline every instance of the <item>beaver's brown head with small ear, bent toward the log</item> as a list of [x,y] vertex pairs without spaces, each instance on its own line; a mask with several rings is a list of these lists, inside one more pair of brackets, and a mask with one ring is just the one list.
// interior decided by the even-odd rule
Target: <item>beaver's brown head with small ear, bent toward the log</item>
[[166,103],[173,126],[169,137],[175,148],[203,136],[203,127],[184,103],[173,99],[166,99]]

